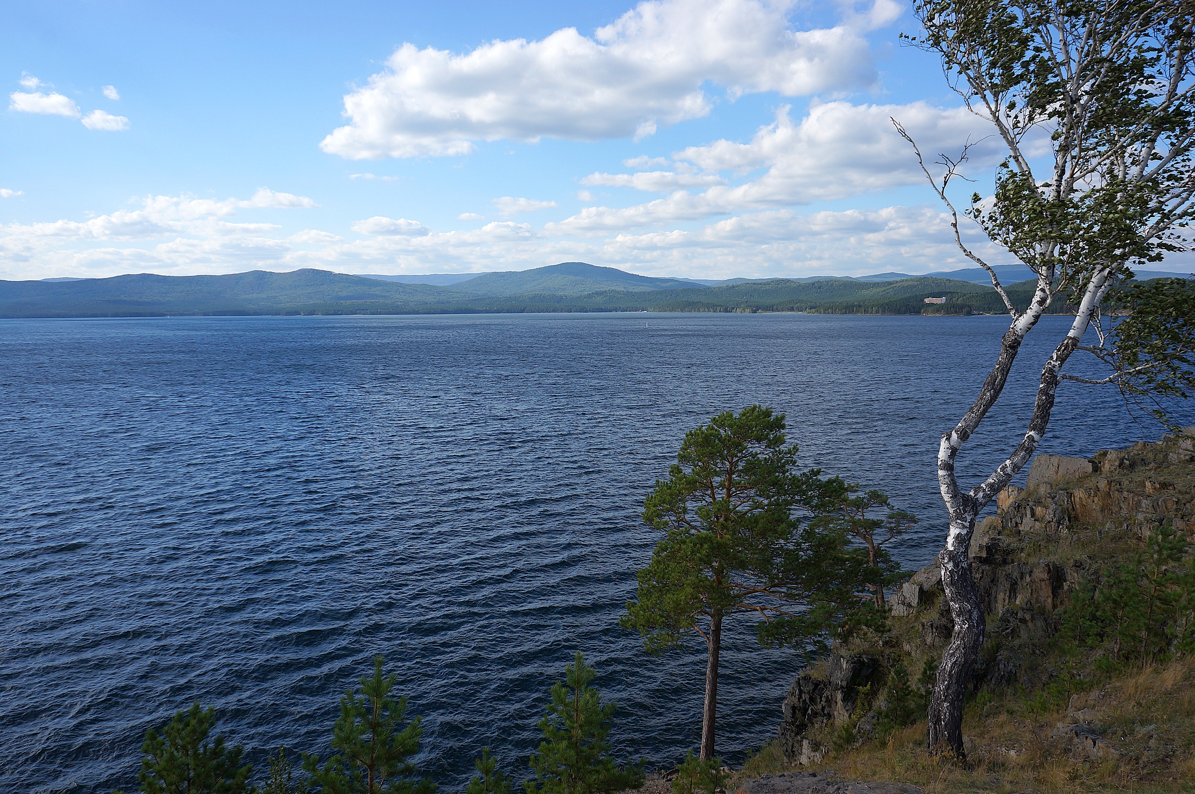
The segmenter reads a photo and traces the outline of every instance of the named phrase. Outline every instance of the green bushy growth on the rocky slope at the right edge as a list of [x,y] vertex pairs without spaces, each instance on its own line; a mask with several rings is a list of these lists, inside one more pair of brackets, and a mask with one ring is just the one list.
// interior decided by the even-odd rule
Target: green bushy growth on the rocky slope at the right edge
[[1146,540],[1144,554],[1103,572],[1102,581],[1076,592],[1062,613],[1062,639],[1098,648],[1111,665],[1160,661],[1195,649],[1195,560],[1170,519]]

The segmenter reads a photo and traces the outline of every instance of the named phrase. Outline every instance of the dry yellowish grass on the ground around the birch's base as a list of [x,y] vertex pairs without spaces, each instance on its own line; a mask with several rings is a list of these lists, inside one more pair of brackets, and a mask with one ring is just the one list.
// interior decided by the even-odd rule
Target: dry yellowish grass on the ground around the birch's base
[[[1079,709],[1081,715],[1068,716]],[[1052,735],[1059,722],[1087,717],[1108,750],[1090,758]],[[1195,792],[1195,661],[1183,660],[1111,678],[1061,704],[1038,695],[973,703],[963,722],[967,762],[925,752],[925,723],[882,741],[836,751],[808,769],[846,780],[914,783],[933,794],[989,792],[1080,794]],[[782,771],[778,750],[765,747],[741,776]]]

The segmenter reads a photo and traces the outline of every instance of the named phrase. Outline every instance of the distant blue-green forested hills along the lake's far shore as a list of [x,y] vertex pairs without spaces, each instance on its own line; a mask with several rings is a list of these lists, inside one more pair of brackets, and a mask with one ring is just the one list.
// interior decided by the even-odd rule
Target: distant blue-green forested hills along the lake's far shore
[[[443,283],[326,270],[220,276],[123,275],[110,279],[0,281],[0,317],[172,314],[404,314],[562,311],[805,311],[829,313],[1003,312],[995,291],[972,270],[863,279],[729,279],[709,285],[564,262],[532,270],[435,274]],[[1004,273],[1001,273],[1001,276]],[[1015,276],[1015,273],[1010,275]],[[1141,274],[1151,277],[1151,274]],[[1175,275],[1175,274],[1158,274]],[[412,276],[402,276],[404,279]],[[433,277],[433,276],[422,276]],[[1031,282],[1013,282],[1028,304]],[[927,305],[929,297],[946,297]],[[1061,307],[1059,307],[1061,311]]]

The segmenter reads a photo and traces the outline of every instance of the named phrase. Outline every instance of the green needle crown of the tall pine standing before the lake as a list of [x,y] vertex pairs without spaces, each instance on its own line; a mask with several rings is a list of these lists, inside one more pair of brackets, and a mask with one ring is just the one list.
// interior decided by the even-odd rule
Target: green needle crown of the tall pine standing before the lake
[[691,630],[710,642],[723,616],[764,616],[765,628],[804,619],[792,605],[808,603],[807,579],[845,545],[808,519],[835,509],[847,485],[798,472],[784,428],[783,415],[760,405],[718,414],[686,433],[668,480],[656,482],[643,517],[664,537],[623,617],[650,652]]

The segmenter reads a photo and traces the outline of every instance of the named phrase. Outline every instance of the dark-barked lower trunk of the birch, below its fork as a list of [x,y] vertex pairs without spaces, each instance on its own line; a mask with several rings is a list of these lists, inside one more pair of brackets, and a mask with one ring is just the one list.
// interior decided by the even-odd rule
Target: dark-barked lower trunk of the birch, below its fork
[[983,610],[970,569],[970,536],[975,519],[952,519],[950,539],[938,555],[942,587],[955,621],[950,645],[942,654],[938,677],[930,698],[929,745],[934,755],[963,757],[963,698],[975,659],[983,645]]

